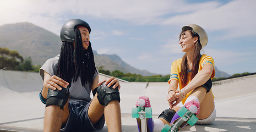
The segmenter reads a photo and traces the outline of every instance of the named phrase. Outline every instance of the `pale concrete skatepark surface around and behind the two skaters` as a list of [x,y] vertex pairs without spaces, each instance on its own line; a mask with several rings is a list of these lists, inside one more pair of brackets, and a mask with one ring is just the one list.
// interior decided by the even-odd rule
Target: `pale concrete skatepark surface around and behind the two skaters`
[[[107,76],[100,75],[100,80]],[[187,125],[179,131],[256,131],[256,75],[213,83],[217,116],[210,125]],[[168,83],[121,82],[122,130],[138,131],[131,111],[140,96],[150,99],[153,119],[168,108]],[[39,99],[39,73],[0,70],[0,132],[42,131],[45,105]],[[105,124],[104,129],[107,131]]]

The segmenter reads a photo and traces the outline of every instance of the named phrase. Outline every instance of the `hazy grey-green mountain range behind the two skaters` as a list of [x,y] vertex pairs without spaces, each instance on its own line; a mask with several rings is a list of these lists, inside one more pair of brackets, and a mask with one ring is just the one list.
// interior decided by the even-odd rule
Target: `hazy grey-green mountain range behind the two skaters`
[[[31,57],[34,64],[42,65],[48,58],[59,54],[62,42],[58,35],[31,23],[16,23],[0,26],[0,47],[16,50],[24,58]],[[143,76],[157,75],[147,70],[139,70],[124,62],[116,54],[97,54],[94,51],[96,67],[104,70],[119,70]],[[215,68],[215,77],[228,77],[225,72]]]

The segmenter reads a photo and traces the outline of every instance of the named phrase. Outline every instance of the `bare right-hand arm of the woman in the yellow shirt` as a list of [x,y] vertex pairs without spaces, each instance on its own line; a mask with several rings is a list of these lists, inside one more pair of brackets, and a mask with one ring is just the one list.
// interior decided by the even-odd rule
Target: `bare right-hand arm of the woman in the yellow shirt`
[[205,64],[203,69],[201,69],[197,75],[190,81],[190,83],[185,86],[181,92],[187,95],[189,91],[203,85],[209,80],[211,74],[213,74],[214,67],[211,64]]

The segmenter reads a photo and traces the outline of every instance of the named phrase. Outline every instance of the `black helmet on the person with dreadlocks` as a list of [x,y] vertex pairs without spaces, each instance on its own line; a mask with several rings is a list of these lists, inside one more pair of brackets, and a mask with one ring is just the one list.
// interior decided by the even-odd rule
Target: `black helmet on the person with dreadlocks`
[[67,21],[62,27],[61,27],[61,41],[66,42],[74,42],[75,41],[75,26],[84,26],[89,30],[89,33],[91,32],[91,27],[88,23],[86,23],[84,20],[81,19],[71,19]]

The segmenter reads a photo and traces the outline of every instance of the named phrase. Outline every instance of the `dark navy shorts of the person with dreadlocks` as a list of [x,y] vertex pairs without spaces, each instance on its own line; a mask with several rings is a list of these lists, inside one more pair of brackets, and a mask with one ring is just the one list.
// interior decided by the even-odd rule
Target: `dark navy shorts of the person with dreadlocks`
[[88,108],[91,102],[83,100],[75,100],[68,102],[69,117],[67,124],[61,131],[95,131],[101,130],[105,124],[104,115],[100,118],[97,124],[93,125],[89,116]]

